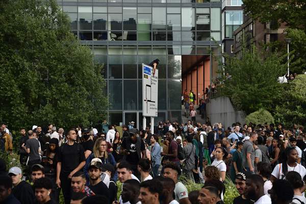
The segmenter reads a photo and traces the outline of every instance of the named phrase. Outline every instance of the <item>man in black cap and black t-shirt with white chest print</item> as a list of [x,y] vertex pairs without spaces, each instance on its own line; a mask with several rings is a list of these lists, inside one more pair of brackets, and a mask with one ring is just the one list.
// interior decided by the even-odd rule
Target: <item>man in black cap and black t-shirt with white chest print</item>
[[123,154],[123,160],[132,165],[134,175],[139,177],[138,162],[140,159],[145,159],[144,141],[137,136],[137,133],[130,132],[129,137],[123,139],[120,149],[120,154]]

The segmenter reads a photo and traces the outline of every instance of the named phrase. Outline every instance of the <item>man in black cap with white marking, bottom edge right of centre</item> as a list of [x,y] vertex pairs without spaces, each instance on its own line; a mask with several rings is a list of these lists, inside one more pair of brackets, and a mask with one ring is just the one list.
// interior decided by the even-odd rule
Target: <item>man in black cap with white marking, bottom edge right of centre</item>
[[250,174],[245,172],[238,172],[236,174],[236,188],[238,190],[238,193],[240,194],[238,197],[234,198],[233,204],[253,204],[254,202],[250,199],[247,199],[245,197],[245,181],[246,177],[248,177]]

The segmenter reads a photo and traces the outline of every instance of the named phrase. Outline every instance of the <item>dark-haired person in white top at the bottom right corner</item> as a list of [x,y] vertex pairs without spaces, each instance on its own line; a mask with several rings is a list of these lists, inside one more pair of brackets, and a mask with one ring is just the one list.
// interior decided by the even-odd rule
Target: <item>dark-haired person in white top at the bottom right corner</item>
[[290,171],[286,175],[286,180],[290,182],[294,190],[292,202],[296,204],[306,203],[306,198],[301,192],[304,186],[301,175],[298,172]]

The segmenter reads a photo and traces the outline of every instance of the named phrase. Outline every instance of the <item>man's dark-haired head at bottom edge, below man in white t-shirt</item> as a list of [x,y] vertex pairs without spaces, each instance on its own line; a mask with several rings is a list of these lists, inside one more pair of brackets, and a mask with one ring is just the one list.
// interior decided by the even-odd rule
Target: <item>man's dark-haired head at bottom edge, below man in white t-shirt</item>
[[122,202],[130,202],[131,204],[141,204],[139,196],[139,182],[135,179],[126,180],[122,186],[121,199]]

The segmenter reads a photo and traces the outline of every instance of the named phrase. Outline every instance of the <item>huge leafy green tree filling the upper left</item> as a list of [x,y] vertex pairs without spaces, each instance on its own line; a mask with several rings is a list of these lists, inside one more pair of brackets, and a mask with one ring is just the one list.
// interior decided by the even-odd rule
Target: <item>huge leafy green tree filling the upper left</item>
[[10,129],[89,125],[104,116],[102,67],[56,1],[1,1],[0,21],[0,119]]

